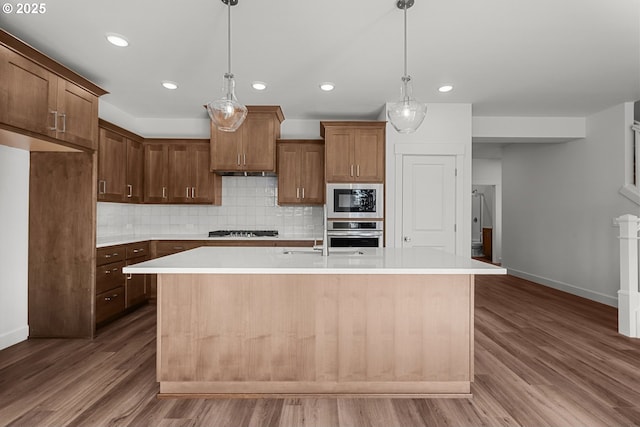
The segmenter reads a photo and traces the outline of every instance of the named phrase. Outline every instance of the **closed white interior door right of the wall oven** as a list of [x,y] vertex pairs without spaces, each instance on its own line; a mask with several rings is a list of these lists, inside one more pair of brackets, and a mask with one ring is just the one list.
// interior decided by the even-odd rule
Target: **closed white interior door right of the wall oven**
[[456,249],[456,158],[402,158],[402,246]]

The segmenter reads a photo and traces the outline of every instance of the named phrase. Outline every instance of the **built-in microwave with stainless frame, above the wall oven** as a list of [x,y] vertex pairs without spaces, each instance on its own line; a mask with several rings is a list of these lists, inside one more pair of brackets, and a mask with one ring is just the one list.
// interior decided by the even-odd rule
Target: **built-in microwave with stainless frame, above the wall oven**
[[382,184],[327,184],[328,218],[379,218],[384,214]]

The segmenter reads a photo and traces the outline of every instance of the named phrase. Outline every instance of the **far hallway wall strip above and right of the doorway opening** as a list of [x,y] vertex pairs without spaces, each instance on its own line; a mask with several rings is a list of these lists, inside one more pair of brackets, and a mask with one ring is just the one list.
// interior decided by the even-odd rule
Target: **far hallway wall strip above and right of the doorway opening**
[[502,160],[474,158],[472,182],[473,185],[495,186],[492,261],[502,263]]

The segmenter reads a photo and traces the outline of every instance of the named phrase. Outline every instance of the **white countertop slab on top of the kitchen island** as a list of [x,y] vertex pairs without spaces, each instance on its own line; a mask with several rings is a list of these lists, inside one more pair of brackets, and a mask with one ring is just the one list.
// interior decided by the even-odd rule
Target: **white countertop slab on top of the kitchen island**
[[[287,254],[291,250],[293,253]],[[354,255],[361,251],[361,255]],[[341,253],[342,252],[342,253]],[[506,274],[504,268],[431,248],[200,247],[125,267],[132,274]]]

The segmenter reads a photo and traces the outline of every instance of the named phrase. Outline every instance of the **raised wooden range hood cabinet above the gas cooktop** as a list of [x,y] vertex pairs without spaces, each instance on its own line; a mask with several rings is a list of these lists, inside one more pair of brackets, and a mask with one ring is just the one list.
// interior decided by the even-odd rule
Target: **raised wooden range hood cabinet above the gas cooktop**
[[247,118],[235,132],[219,131],[211,123],[212,171],[275,172],[282,110],[265,105],[247,109]]

